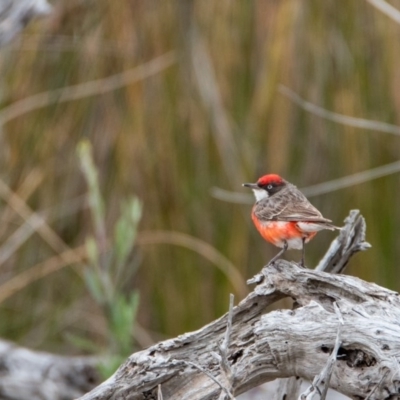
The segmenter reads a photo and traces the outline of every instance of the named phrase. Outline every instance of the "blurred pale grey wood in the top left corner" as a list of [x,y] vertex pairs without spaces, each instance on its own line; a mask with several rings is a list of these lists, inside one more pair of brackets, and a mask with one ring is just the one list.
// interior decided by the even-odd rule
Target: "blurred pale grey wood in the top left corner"
[[50,12],[47,0],[1,0],[0,46],[8,43],[33,18]]

